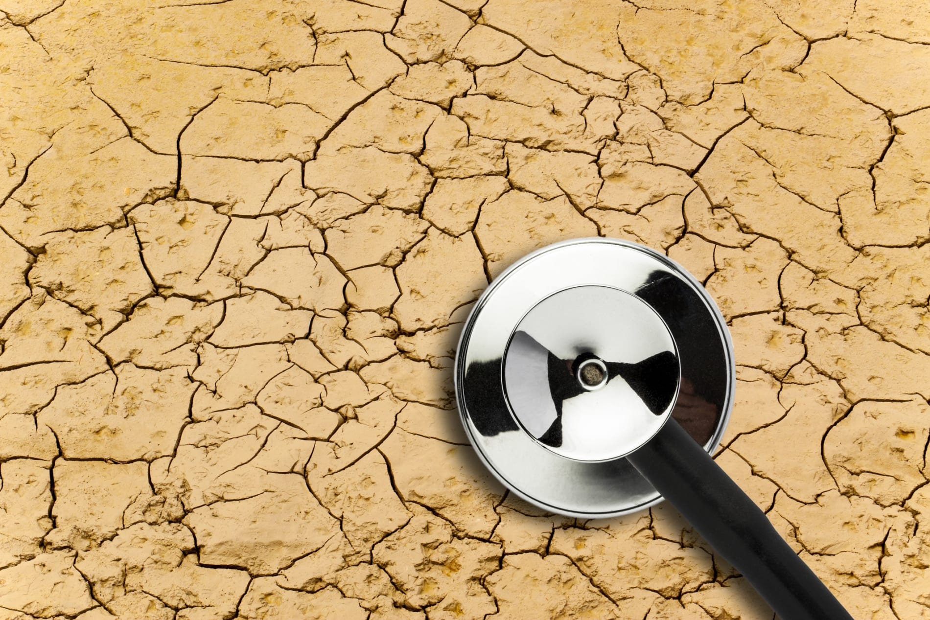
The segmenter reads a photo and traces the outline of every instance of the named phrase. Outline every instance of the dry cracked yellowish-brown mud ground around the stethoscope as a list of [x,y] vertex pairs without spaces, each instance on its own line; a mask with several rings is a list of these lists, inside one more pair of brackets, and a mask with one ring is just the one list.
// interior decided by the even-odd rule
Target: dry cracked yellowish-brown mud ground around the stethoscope
[[790,545],[930,618],[925,3],[0,11],[0,618],[770,620],[459,429],[473,300],[591,235],[720,304],[717,460]]

